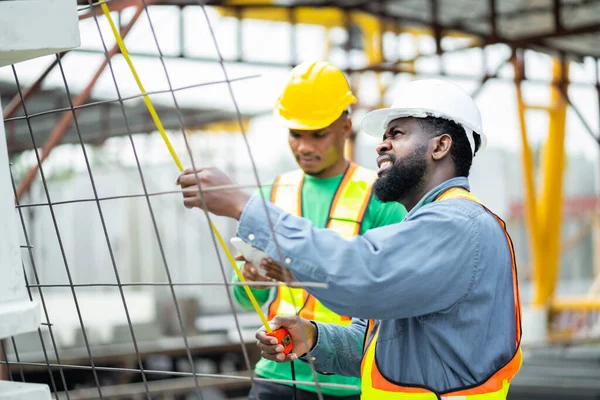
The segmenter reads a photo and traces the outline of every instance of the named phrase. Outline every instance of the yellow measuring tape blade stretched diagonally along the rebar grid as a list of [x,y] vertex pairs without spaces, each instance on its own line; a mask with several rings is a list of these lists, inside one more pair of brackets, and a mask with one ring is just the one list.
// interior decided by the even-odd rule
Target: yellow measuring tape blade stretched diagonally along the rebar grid
[[[154,106],[152,105],[152,101],[150,101],[150,97],[148,97],[148,95],[146,94],[146,89],[144,89],[144,86],[142,85],[140,77],[137,74],[137,71],[135,70],[133,63],[131,62],[131,58],[129,57],[129,52],[127,51],[127,47],[125,47],[123,38],[121,38],[121,34],[119,33],[119,31],[117,30],[117,27],[115,26],[115,22],[113,21],[111,15],[110,15],[110,10],[108,9],[106,3],[104,3],[104,2],[102,2],[100,4],[100,7],[102,8],[102,12],[106,16],[106,19],[108,20],[108,23],[110,24],[110,28],[112,29],[113,35],[115,36],[115,39],[117,40],[117,44],[119,45],[121,54],[123,54],[123,57],[125,57],[125,61],[127,61],[127,65],[129,65],[129,69],[131,70],[131,73],[133,74],[133,77],[135,78],[135,81],[136,81],[138,87],[140,88],[140,91],[144,95],[144,102],[146,103],[146,107],[148,107],[148,112],[150,112],[150,115],[152,116],[152,119],[154,120],[154,123],[156,124],[156,128],[160,132],[160,135],[162,136],[163,140],[165,141],[165,144],[167,145],[167,148],[169,149],[169,153],[171,153],[171,157],[173,157],[173,161],[175,161],[175,164],[177,164],[177,168],[179,168],[179,172],[183,172],[183,166],[181,165],[181,161],[179,161],[179,157],[177,157],[177,153],[175,153],[175,150],[173,149],[173,146],[171,145],[171,142],[169,141],[169,138],[167,137],[165,128],[163,127],[162,123],[160,122],[160,118],[158,117],[158,114],[156,113],[156,110],[154,109]],[[210,221],[210,228],[212,229],[213,233],[215,234],[219,244],[223,248],[223,251],[225,252],[225,255],[227,256],[227,259],[231,263],[231,266],[233,267],[233,270],[235,271],[236,275],[238,276],[240,282],[246,282],[246,280],[244,279],[244,276],[242,275],[242,272],[240,271],[240,269],[238,268],[238,266],[235,262],[235,259],[231,255],[231,252],[225,245],[225,242],[223,241],[221,234],[217,230],[217,227],[212,223],[212,221]],[[248,298],[250,299],[250,302],[252,303],[254,310],[260,317],[260,320],[262,321],[265,329],[267,330],[267,332],[272,332],[273,330],[269,326],[269,323],[267,321],[267,318],[265,317],[265,314],[260,309],[260,306],[258,305],[258,302],[256,301],[256,298],[254,297],[254,294],[252,294],[252,291],[250,290],[248,285],[244,285],[243,287],[244,287],[244,290],[246,290],[246,294],[248,295]]]

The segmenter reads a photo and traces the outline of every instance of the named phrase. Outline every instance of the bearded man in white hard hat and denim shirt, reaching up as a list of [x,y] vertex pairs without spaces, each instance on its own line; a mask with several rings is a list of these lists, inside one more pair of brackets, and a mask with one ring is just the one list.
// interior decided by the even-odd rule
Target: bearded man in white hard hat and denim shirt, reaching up
[[[382,138],[373,190],[406,207],[402,223],[346,240],[269,204],[271,230],[259,198],[204,194],[209,211],[240,221],[238,236],[252,237],[297,281],[327,283],[307,290],[355,317],[349,326],[276,317],[270,323],[290,332],[292,353],[261,329],[262,356],[312,358],[319,371],[360,376],[364,399],[506,399],[522,362],[521,306],[504,222],[469,192],[485,144],[477,105],[451,83],[414,81],[362,126]],[[196,173],[206,188],[231,184],[216,169]],[[180,177],[182,187],[195,181]],[[184,197],[187,207],[202,205],[194,193]]]

